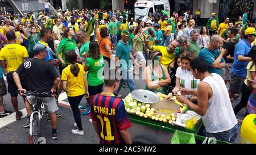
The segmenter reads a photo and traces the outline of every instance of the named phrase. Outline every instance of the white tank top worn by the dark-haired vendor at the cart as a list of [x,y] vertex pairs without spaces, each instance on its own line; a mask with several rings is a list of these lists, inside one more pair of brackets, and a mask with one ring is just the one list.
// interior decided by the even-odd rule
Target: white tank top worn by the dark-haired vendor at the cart
[[208,100],[206,114],[202,118],[205,130],[219,133],[232,129],[237,124],[237,119],[224,80],[220,75],[212,73],[202,82],[207,83],[213,92]]

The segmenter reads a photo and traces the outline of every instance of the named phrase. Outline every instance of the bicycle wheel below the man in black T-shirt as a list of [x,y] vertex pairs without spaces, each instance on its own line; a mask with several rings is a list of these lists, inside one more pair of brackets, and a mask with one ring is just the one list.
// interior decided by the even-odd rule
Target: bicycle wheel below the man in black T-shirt
[[38,138],[41,136],[41,122],[38,115],[33,116],[32,135],[30,135],[30,144],[38,144]]

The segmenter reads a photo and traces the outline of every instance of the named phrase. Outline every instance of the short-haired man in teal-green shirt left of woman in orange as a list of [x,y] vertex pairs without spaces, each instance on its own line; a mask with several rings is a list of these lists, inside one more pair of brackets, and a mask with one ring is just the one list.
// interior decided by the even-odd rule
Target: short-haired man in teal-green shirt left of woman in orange
[[[82,57],[83,53],[86,53],[86,55],[88,55],[90,40],[88,40],[86,31],[80,30],[79,32],[77,32],[77,39],[82,44],[79,51],[80,57]],[[81,60],[81,63],[82,61],[84,60]]]

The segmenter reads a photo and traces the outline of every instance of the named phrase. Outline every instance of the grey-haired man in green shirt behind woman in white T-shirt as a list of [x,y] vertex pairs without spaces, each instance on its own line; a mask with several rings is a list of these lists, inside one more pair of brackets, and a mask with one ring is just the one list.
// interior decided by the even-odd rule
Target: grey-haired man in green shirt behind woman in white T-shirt
[[199,39],[199,32],[196,30],[191,31],[190,33],[190,39],[189,39],[189,47],[187,48],[187,51],[193,51],[196,53],[196,55],[199,55],[200,47],[197,43],[197,40]]

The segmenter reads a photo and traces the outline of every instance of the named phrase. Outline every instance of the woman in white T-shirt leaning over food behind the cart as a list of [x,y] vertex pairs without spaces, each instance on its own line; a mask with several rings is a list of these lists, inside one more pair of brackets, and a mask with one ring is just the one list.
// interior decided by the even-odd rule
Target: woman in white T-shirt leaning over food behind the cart
[[[191,72],[190,62],[196,58],[195,52],[184,52],[180,56],[182,66],[177,68],[176,71],[176,86],[174,90],[170,94],[168,94],[167,98],[171,99],[174,94],[177,94],[181,88],[197,90],[197,86],[200,82],[199,79],[195,79]],[[192,95],[185,95],[185,98],[191,99],[195,101],[195,97]]]

